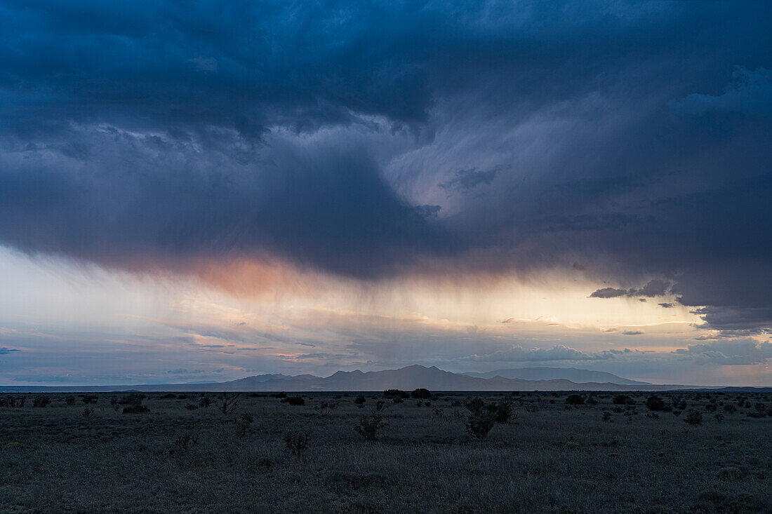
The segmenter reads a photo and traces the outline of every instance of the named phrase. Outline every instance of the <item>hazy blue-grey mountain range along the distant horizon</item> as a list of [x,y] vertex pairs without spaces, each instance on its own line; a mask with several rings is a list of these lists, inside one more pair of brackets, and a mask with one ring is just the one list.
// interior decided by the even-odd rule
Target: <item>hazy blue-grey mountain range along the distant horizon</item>
[[[425,387],[430,391],[669,391],[682,389],[719,389],[677,384],[649,384],[618,377],[602,371],[576,368],[525,367],[487,373],[451,373],[437,367],[417,364],[398,370],[336,371],[329,377],[315,375],[262,374],[228,382],[197,384],[142,384],[103,386],[0,386],[5,392],[46,391],[410,391]],[[758,388],[726,387],[725,390]],[[768,389],[768,388],[767,388]]]

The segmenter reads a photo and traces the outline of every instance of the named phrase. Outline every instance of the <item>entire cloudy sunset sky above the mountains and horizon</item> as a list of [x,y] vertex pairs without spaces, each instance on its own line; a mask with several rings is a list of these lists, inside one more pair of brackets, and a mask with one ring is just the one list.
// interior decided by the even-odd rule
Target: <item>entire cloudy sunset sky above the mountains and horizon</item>
[[0,0],[0,384],[772,386],[770,20]]

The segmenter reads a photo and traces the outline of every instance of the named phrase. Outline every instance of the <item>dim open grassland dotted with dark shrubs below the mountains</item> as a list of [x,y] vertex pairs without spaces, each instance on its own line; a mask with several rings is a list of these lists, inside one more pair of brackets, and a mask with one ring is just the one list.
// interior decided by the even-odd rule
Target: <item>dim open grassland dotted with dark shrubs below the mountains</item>
[[626,394],[4,395],[0,510],[772,512],[770,395]]

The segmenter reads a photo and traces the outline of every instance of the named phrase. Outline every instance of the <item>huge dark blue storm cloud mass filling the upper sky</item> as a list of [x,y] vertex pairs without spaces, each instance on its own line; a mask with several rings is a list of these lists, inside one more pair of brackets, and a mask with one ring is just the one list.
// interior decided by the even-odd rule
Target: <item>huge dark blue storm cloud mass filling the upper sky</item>
[[591,296],[772,326],[770,15],[2,2],[0,242],[368,278],[581,262],[628,288]]

